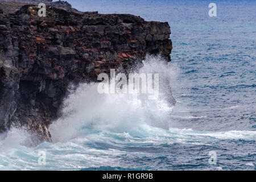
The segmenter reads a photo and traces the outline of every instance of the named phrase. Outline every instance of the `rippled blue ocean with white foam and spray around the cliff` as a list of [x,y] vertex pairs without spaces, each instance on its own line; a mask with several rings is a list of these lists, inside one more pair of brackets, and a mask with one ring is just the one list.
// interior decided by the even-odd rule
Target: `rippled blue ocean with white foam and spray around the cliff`
[[212,1],[68,2],[82,11],[167,21],[171,63],[147,57],[141,72],[168,78],[177,104],[71,86],[49,129],[53,142],[29,148],[26,132],[12,129],[0,140],[1,170],[256,169],[256,1],[214,1],[217,17],[208,15]]

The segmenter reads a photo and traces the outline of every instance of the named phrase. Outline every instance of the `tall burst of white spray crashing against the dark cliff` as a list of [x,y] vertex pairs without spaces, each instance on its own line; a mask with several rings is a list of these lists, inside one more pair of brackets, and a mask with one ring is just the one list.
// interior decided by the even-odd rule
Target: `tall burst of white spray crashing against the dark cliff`
[[[163,88],[160,90],[171,92],[166,89],[170,88],[175,71],[160,56],[147,56],[143,62],[138,73],[159,73],[163,80],[159,82]],[[140,94],[100,94],[97,86],[97,83],[84,83],[70,90],[61,117],[49,127],[54,142],[76,138],[86,129],[116,133],[133,132],[142,125],[168,129],[173,106],[167,97],[142,100]]]

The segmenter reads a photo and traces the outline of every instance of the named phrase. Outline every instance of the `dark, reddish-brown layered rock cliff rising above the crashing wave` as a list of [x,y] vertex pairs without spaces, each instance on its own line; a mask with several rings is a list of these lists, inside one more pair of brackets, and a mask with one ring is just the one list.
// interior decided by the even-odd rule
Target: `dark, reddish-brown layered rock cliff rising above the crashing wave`
[[[15,6],[15,8],[14,8]],[[128,71],[146,53],[170,61],[167,22],[129,14],[97,14],[0,2],[0,132],[24,127],[32,143],[51,141],[67,86],[94,81],[110,68]]]

